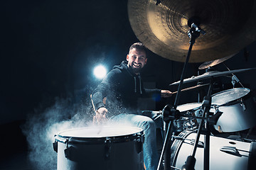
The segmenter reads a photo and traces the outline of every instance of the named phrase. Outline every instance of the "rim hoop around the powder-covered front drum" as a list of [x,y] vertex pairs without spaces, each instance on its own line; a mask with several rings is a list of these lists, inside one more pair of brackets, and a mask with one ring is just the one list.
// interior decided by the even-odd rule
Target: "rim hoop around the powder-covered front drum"
[[[104,126],[103,128],[110,128],[111,126]],[[71,135],[61,135],[61,132],[66,132],[70,130],[82,130],[82,129],[87,129],[87,128],[72,128],[68,130],[63,130],[61,132],[58,132],[57,135],[55,135],[55,141],[57,142],[69,142],[69,143],[104,143],[106,140],[111,140],[111,142],[124,142],[124,141],[130,141],[130,140],[135,140],[138,139],[139,137],[142,137],[144,135],[144,132],[142,128],[137,128],[137,127],[127,127],[127,126],[119,126],[122,128],[134,128],[139,130],[138,132],[133,132],[130,133],[129,135],[114,135],[110,137],[74,137]]]

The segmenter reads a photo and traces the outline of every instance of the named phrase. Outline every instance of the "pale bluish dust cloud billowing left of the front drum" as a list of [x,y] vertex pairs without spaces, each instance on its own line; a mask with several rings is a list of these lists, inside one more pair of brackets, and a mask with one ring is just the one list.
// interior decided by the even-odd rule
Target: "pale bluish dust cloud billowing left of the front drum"
[[28,141],[28,159],[33,169],[57,169],[54,135],[62,130],[92,123],[90,103],[73,104],[70,98],[55,98],[55,104],[28,116],[23,133]]

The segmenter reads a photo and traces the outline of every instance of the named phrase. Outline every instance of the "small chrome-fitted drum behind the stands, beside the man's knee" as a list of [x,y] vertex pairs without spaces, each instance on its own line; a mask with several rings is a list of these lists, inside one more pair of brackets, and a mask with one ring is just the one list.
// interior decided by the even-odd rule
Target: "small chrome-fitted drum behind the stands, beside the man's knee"
[[[195,111],[201,108],[202,103],[187,103],[180,106],[177,106],[177,110],[183,113],[184,115],[194,116]],[[198,125],[197,120],[193,118],[181,118],[176,120],[177,127],[183,128],[183,130],[193,129],[196,128]]]

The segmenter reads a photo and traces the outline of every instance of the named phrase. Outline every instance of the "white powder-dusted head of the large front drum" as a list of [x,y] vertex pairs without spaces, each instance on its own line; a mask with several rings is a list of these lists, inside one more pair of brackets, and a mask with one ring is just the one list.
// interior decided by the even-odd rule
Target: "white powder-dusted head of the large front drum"
[[61,137],[95,138],[134,135],[139,132],[142,132],[141,128],[122,126],[93,126],[88,128],[75,128],[65,130],[63,132],[60,132],[58,135]]

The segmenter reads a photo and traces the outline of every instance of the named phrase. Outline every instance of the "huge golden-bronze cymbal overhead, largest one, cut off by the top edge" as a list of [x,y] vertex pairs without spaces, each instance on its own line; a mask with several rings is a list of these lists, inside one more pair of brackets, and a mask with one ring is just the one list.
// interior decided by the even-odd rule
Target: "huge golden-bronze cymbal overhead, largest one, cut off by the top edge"
[[137,38],[176,62],[186,61],[189,18],[201,18],[206,31],[196,39],[189,62],[227,57],[256,40],[256,0],[129,0],[127,7]]

